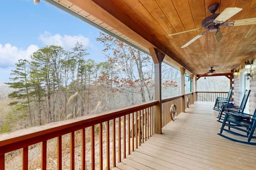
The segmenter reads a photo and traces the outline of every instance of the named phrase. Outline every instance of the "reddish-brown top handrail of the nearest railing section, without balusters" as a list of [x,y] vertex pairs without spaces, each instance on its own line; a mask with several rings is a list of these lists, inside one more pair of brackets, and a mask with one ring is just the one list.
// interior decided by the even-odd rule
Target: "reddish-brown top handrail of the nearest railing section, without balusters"
[[[86,115],[77,117],[71,120],[49,123],[42,126],[36,126],[33,128],[22,129],[11,133],[5,133],[0,135],[0,154],[23,148],[28,145],[41,142],[41,139],[48,140],[58,137],[66,133],[70,133],[76,130],[87,128],[94,124],[99,124],[119,116],[123,116],[129,113],[136,112],[140,109],[155,106],[158,103],[157,100],[149,101],[147,103],[138,104],[134,106],[127,106],[113,111],[103,112],[99,114]],[[11,143],[15,143],[12,148],[7,149]],[[20,147],[21,146],[21,147]]]

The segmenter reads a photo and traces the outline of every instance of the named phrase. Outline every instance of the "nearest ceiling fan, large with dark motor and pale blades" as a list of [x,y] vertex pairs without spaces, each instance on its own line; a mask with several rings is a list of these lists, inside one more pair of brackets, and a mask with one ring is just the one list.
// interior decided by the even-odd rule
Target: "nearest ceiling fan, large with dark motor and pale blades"
[[[173,34],[168,35],[168,36],[174,36],[174,35],[178,35],[180,33],[186,33],[186,32],[189,32],[189,31],[205,29],[206,31],[215,32],[214,33],[215,40],[216,40],[217,43],[219,43],[219,41],[221,40],[221,37],[222,37],[221,31],[220,31],[220,28],[219,28],[220,26],[225,25],[227,27],[234,27],[234,26],[240,26],[240,25],[256,24],[256,18],[247,18],[247,19],[241,19],[241,20],[235,20],[235,21],[229,21],[228,22],[227,20],[229,18],[231,18],[232,16],[234,16],[238,12],[242,11],[243,9],[239,8],[239,7],[227,7],[221,13],[215,14],[218,7],[219,7],[219,4],[213,4],[213,5],[210,5],[208,7],[208,10],[212,13],[212,15],[207,16],[202,21],[202,23],[201,23],[202,27],[201,28],[196,28],[196,29],[193,29],[193,30],[177,32],[177,33],[173,33]],[[196,37],[194,37],[193,39],[188,41],[188,43],[183,45],[181,48],[187,47],[188,45],[193,43],[195,40],[202,37],[206,33],[206,31],[204,31],[202,33],[199,33]]]

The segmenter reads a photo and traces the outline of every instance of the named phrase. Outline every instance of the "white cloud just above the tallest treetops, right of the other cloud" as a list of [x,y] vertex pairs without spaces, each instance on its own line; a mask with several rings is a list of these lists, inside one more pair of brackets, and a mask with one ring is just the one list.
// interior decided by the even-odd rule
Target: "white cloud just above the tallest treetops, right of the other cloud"
[[89,47],[90,45],[89,38],[84,37],[82,35],[78,35],[78,36],[70,36],[70,35],[61,36],[59,34],[52,35],[50,32],[47,32],[47,31],[45,31],[44,34],[39,36],[39,40],[41,40],[42,43],[46,46],[57,45],[57,46],[63,47],[66,50],[71,50],[72,48],[74,48],[77,42],[82,43],[84,45],[84,48]]

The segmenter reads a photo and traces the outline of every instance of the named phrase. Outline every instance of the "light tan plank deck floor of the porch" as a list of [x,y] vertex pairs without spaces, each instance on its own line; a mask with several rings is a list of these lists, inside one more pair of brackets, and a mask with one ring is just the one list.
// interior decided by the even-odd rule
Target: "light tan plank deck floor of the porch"
[[221,123],[212,107],[191,105],[114,169],[256,169],[256,146],[217,135]]

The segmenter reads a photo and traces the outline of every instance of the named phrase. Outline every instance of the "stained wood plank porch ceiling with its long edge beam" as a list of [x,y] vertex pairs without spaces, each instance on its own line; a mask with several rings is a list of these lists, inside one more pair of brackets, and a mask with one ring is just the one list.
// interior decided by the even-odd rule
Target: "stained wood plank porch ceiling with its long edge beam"
[[[48,2],[51,0],[47,0]],[[85,17],[93,16],[93,22],[118,32],[118,36],[149,52],[158,48],[167,56],[165,62],[183,66],[187,73],[204,74],[210,67],[217,73],[230,73],[239,69],[245,60],[256,56],[256,24],[239,27],[220,27],[222,39],[217,44],[214,32],[207,31],[186,48],[180,48],[205,30],[201,22],[211,13],[208,7],[219,4],[215,13],[226,7],[243,10],[228,21],[255,18],[256,0],[54,0]],[[74,10],[75,8],[75,10]],[[100,22],[99,22],[100,21]],[[102,27],[102,26],[101,26]],[[114,30],[114,31],[113,31]],[[154,59],[154,58],[153,58]]]

